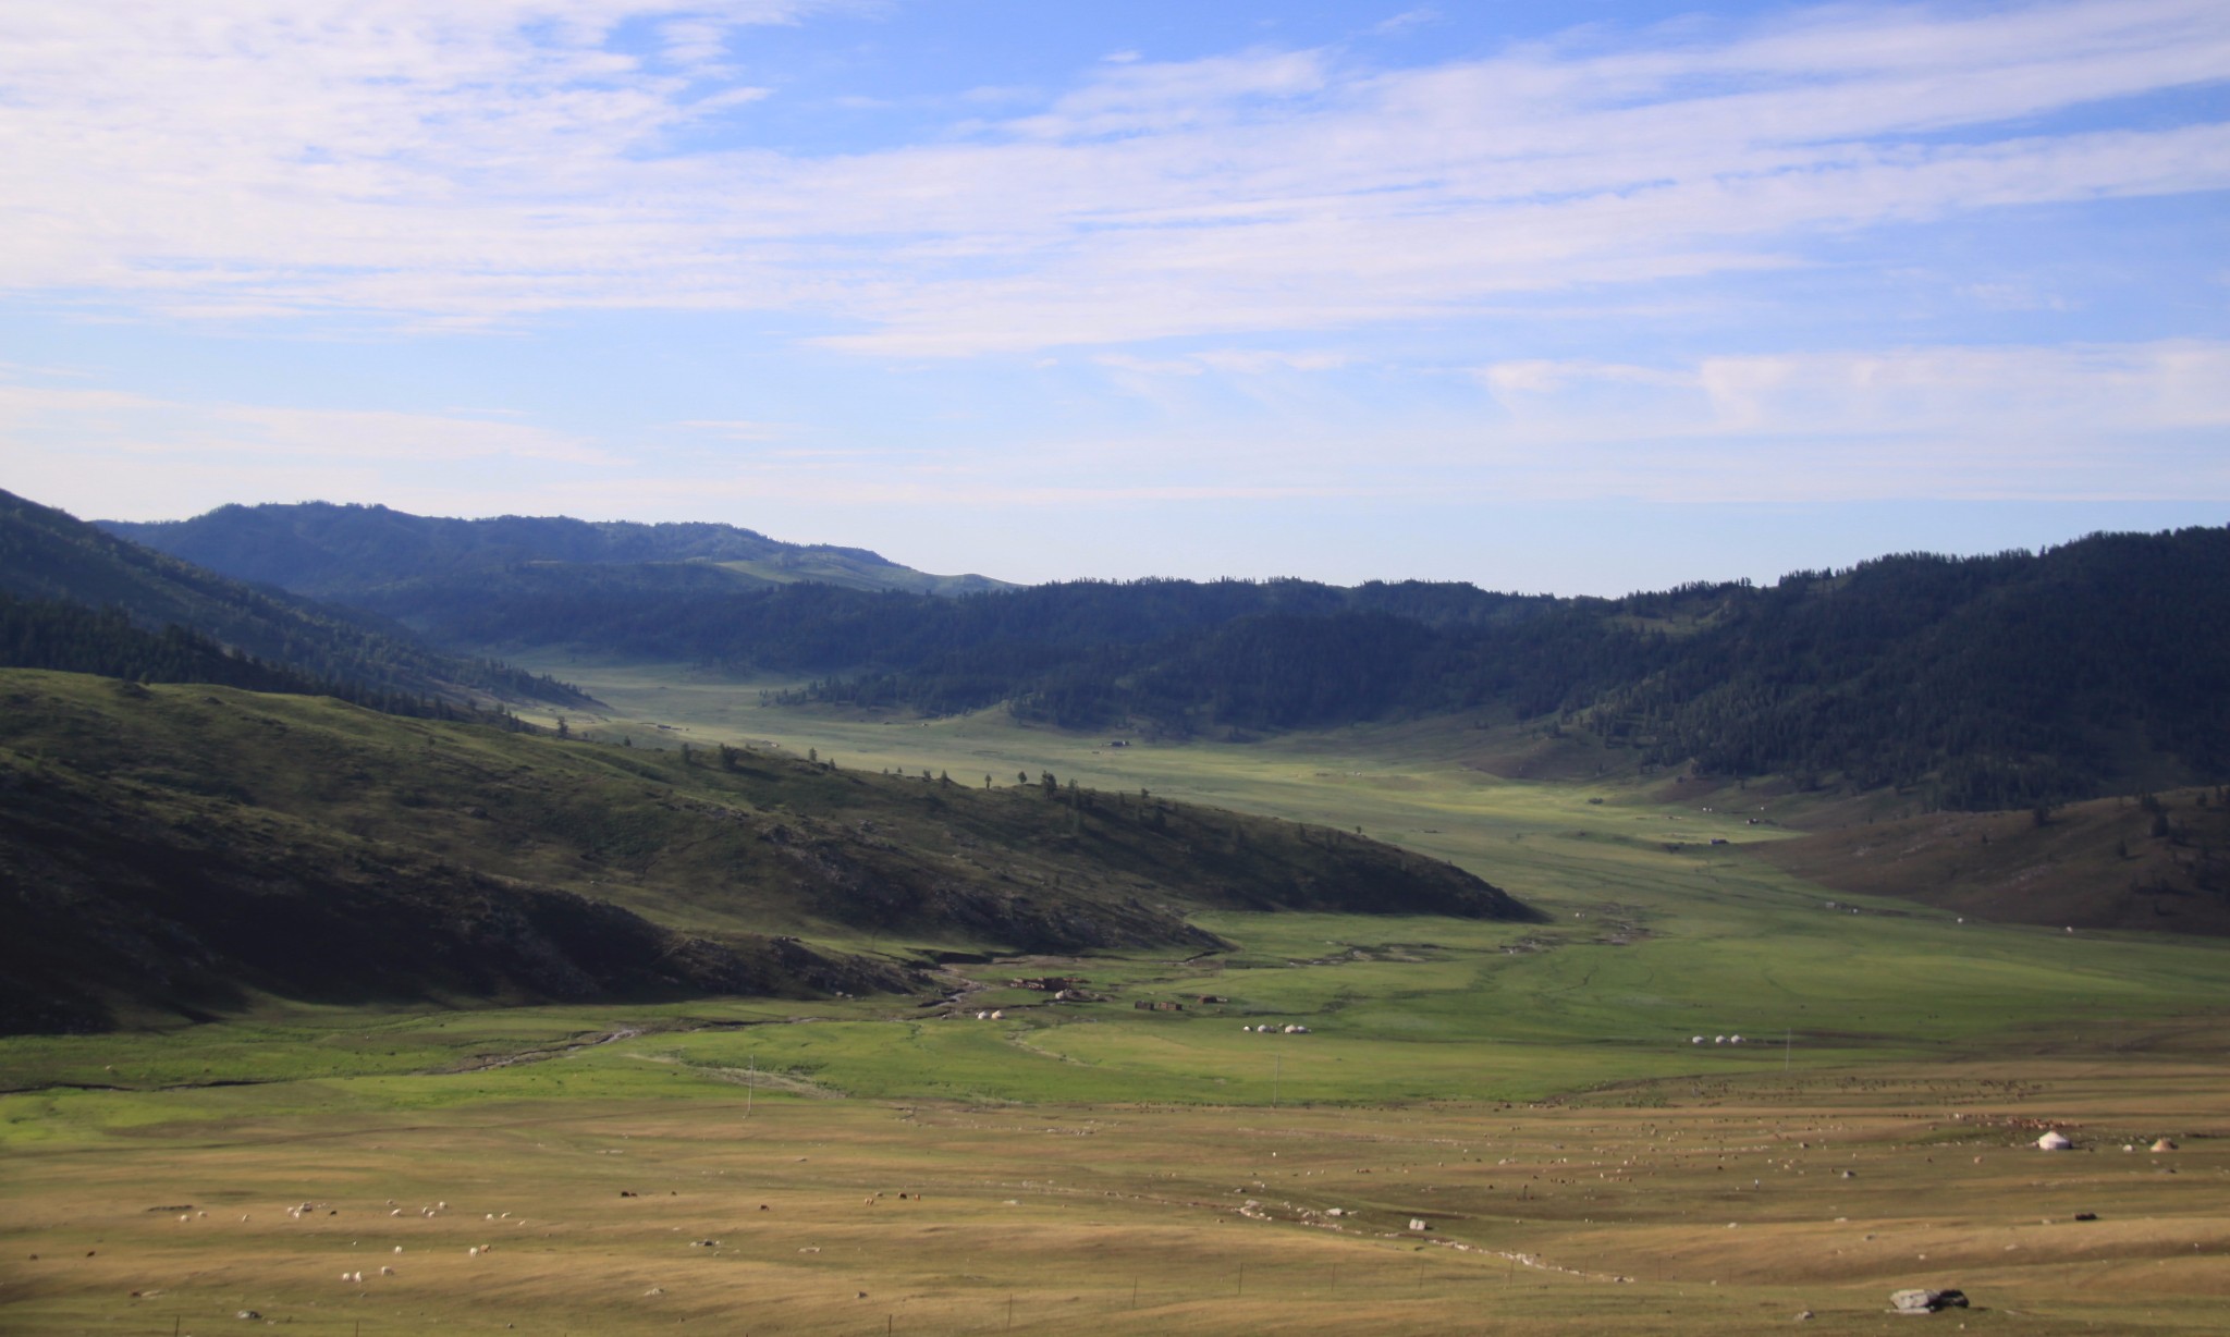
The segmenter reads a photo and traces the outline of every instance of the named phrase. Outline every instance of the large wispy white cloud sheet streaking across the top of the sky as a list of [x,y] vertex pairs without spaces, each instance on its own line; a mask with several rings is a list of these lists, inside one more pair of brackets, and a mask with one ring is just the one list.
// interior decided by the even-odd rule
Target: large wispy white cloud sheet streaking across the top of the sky
[[2230,187],[2219,120],[2049,123],[2221,82],[2212,0],[1826,7],[1412,67],[1102,62],[910,143],[691,138],[769,96],[731,69],[756,27],[827,7],[16,7],[0,290],[397,323],[787,310],[830,348],[943,357],[1447,319]]

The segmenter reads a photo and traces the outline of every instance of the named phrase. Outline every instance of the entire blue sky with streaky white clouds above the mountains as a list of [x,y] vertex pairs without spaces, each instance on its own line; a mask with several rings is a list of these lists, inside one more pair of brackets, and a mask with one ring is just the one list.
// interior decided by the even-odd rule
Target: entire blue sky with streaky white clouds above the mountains
[[2221,0],[16,4],[0,486],[1557,593],[2223,524],[2226,89]]

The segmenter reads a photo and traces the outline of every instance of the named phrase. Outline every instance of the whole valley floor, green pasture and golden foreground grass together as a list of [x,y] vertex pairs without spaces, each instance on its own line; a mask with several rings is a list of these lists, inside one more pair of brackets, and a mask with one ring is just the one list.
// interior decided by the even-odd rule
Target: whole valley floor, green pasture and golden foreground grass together
[[[1447,726],[1115,749],[537,668],[636,746],[1360,827],[1548,923],[1209,914],[1233,951],[941,998],[0,1038],[0,1330],[1904,1333],[1907,1286],[1969,1295],[1942,1328],[2230,1330],[2230,943],[1826,891],[1746,849],[1788,798]],[[1093,998],[1010,983],[1050,974]]]

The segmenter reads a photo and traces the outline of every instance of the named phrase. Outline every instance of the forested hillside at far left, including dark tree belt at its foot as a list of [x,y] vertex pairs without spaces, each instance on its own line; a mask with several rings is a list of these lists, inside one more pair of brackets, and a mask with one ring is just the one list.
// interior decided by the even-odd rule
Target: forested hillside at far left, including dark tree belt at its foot
[[[172,677],[183,668],[161,664],[198,662],[214,682],[256,684],[241,680],[245,668],[210,660],[214,651],[256,660],[297,684],[288,691],[332,689],[366,702],[586,700],[495,660],[430,651],[363,611],[250,588],[11,492],[0,492],[0,595],[22,602],[9,613],[18,635],[7,664],[16,666]],[[156,655],[114,622],[87,619],[96,611],[154,635],[176,626],[185,640]]]

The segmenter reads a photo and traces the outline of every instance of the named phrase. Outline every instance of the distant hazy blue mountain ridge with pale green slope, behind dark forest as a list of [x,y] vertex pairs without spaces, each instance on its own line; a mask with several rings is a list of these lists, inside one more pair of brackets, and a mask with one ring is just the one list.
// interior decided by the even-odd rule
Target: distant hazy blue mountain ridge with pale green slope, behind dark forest
[[716,579],[738,588],[801,579],[923,595],[1012,588],[983,575],[930,575],[867,548],[785,544],[729,524],[533,515],[453,519],[332,501],[221,506],[194,519],[98,524],[112,535],[236,579],[337,599],[381,586],[446,582],[531,564],[689,564],[714,568]]

